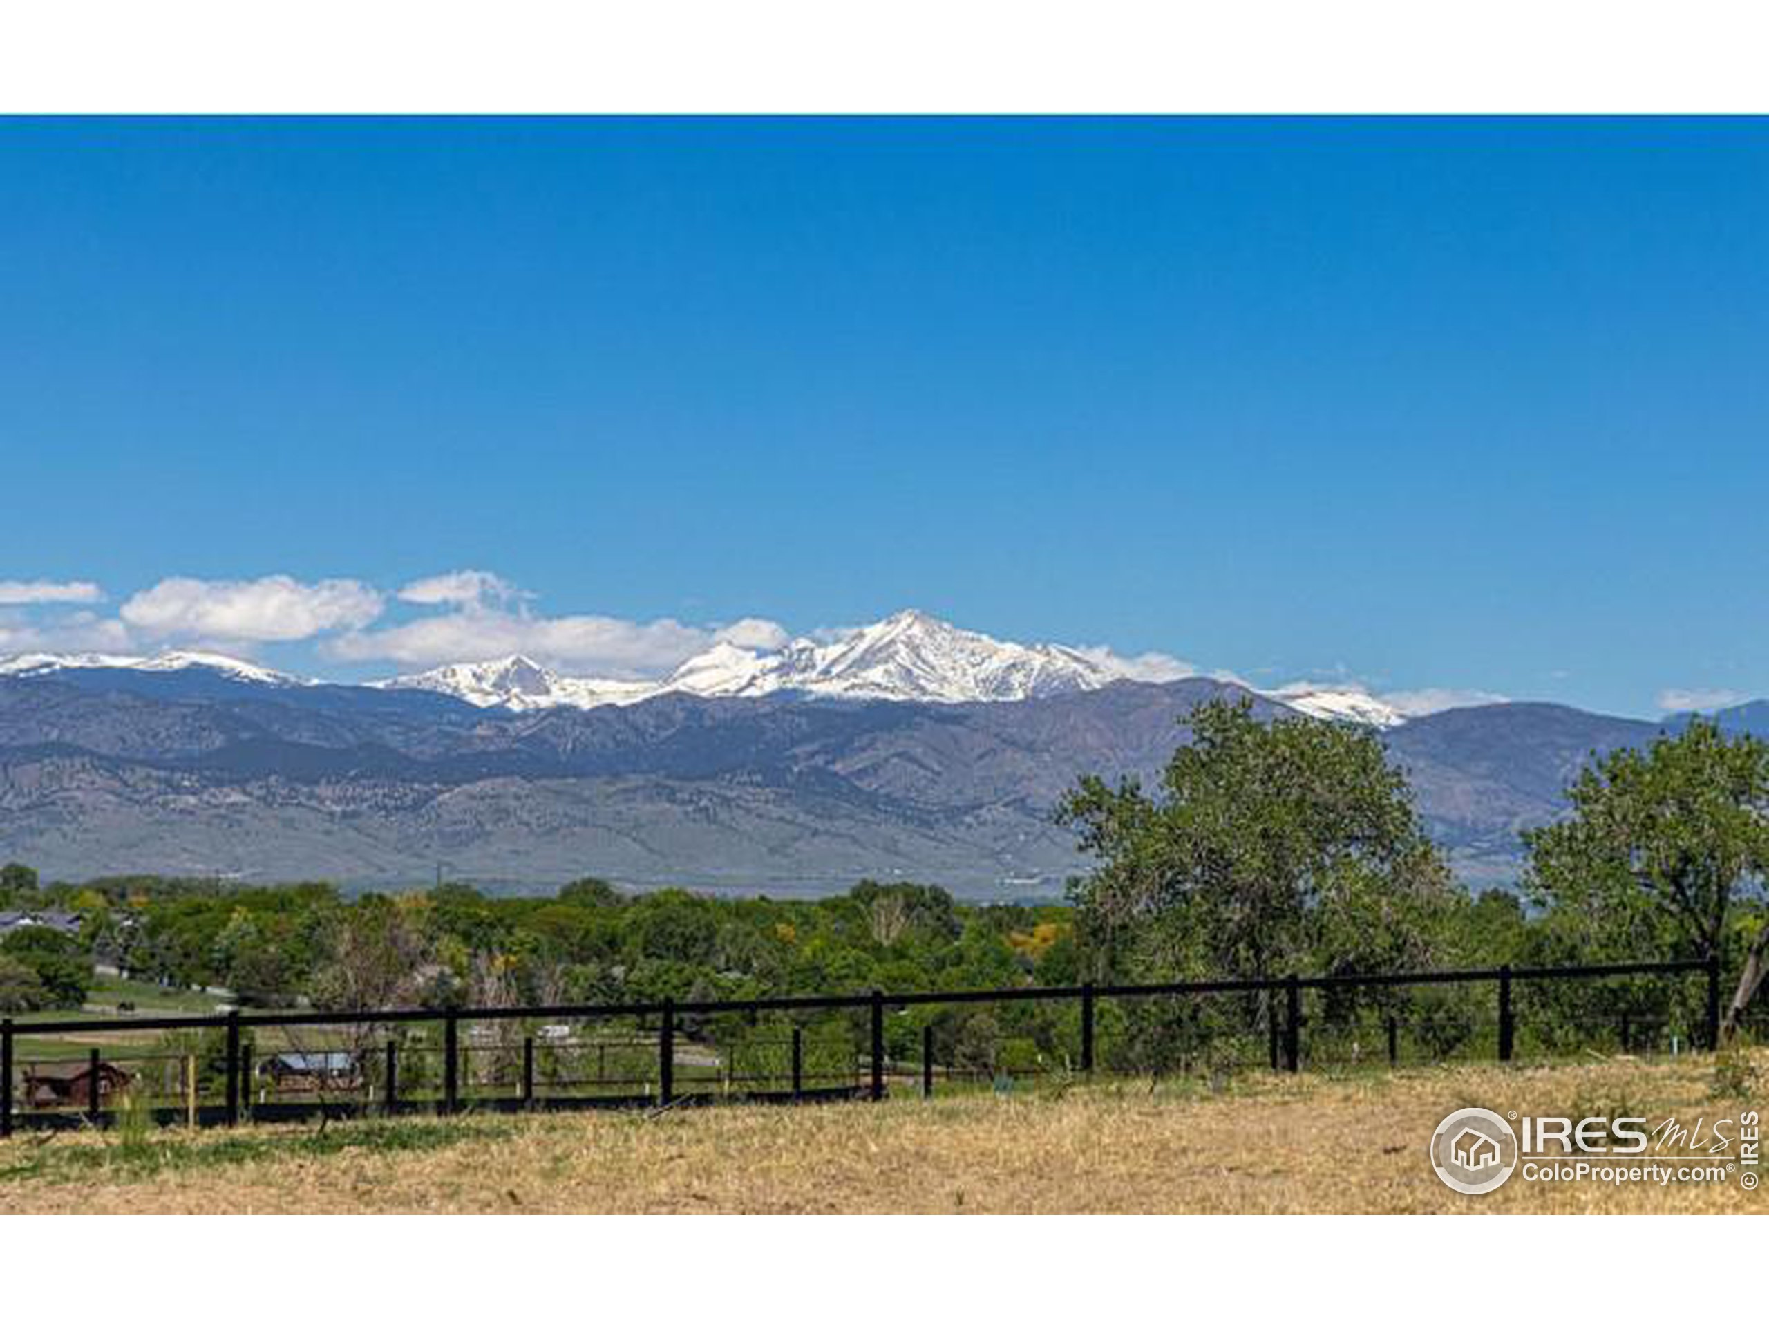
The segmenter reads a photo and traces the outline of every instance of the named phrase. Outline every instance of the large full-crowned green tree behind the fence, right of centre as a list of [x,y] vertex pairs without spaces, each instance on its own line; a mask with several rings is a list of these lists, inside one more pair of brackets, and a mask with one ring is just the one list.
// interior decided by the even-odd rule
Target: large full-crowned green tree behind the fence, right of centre
[[[1061,805],[1100,860],[1070,888],[1097,968],[1143,980],[1424,968],[1456,901],[1369,729],[1206,701],[1160,794],[1083,779]],[[1104,975],[1104,971],[1100,973]]]

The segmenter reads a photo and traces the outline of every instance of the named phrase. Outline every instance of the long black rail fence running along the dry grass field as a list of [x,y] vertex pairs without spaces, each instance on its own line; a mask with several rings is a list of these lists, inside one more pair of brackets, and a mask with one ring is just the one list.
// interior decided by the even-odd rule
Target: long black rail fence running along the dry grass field
[[[1675,982],[1665,986],[1665,978],[1691,973],[1705,975],[1700,993]],[[1604,978],[1627,980],[1612,998],[1585,1000],[1571,1009],[1564,984]],[[1442,987],[1459,993],[1452,1005],[1413,996],[1403,1005],[1396,996]],[[1479,987],[1491,991],[1475,998]],[[1221,1001],[1228,1001],[1226,1016]],[[1183,1070],[1199,1063],[1189,1058],[1198,1047],[1217,1053],[1224,1044],[1242,1056],[1240,1063],[1258,1058],[1272,1070],[1288,1072],[1316,1058],[1378,1063],[1385,1058],[1396,1065],[1405,1058],[1403,1047],[1433,1062],[1454,1058],[1458,1049],[1467,1055],[1470,1047],[1479,1058],[1509,1062],[1516,1056],[1520,1024],[1557,1035],[1571,1028],[1573,1040],[1585,1046],[1601,1033],[1624,1053],[1666,1042],[1677,1049],[1679,1035],[1682,1046],[1714,1047],[1719,964],[1718,959],[1693,959],[729,1001],[0,1019],[0,1136],[19,1124],[113,1124],[126,1109],[142,1109],[156,1122],[237,1124],[246,1116],[287,1120],[317,1113],[670,1108],[732,1095],[879,1101],[893,1081],[932,1095],[936,1079],[999,1081],[1001,1067],[994,1055],[966,1058],[950,1033],[945,1055],[938,1053],[932,1021],[922,1021],[918,1039],[913,1028],[893,1030],[890,1040],[897,1053],[892,1055],[888,1012],[1053,1003],[1061,1019],[1044,1033],[1047,1040],[1063,1042],[1061,1063],[1028,1042],[1026,1055],[1012,1062],[1012,1074],[1053,1067],[1079,1074],[1093,1074],[1097,1067],[1107,1072],[1129,1067]],[[1104,1016],[1107,1007],[1113,1017]],[[1139,1028],[1137,1017],[1152,1010],[1164,1017],[1155,1019],[1152,1030]],[[1491,1014],[1489,1023],[1482,1021],[1482,1010]],[[582,1024],[591,1023],[601,1023],[603,1030],[586,1037]],[[741,1028],[739,1037],[731,1035],[732,1023]],[[612,1033],[607,1024],[614,1024]],[[720,1024],[729,1047],[708,1049],[718,1046]],[[165,1039],[186,1033],[189,1044],[142,1051],[134,1049],[140,1042],[127,1040],[154,1032]],[[65,1049],[60,1058],[35,1049],[18,1055],[21,1042],[37,1047],[46,1039],[69,1037],[126,1040],[90,1044],[78,1060],[69,1060]],[[1148,1058],[1150,1042],[1162,1047],[1160,1056]],[[1557,1046],[1553,1037],[1535,1040],[1544,1053]],[[115,1063],[127,1060],[142,1069],[127,1072]]]

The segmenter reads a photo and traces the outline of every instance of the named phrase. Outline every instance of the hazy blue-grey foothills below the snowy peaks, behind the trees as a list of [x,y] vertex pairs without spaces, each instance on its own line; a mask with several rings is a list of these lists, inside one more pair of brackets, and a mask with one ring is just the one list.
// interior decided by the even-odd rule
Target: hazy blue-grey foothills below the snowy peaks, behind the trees
[[[189,672],[0,676],[0,858],[398,885],[437,862],[509,886],[840,888],[870,874],[992,895],[1086,867],[1051,809],[1083,773],[1152,786],[1208,678],[1026,701],[670,692],[517,711],[428,692]],[[1385,729],[1428,830],[1472,883],[1516,878],[1520,828],[1592,754],[1661,725],[1491,704]],[[1024,886],[1015,886],[1024,894]]]

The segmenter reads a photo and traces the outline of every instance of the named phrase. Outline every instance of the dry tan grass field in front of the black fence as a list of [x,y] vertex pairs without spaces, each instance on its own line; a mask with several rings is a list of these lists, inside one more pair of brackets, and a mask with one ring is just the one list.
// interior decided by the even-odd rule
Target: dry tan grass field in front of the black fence
[[1520,1173],[1467,1198],[1426,1159],[1433,1127],[1459,1106],[1737,1118],[1746,1102],[1714,1101],[1712,1085],[1712,1062],[1686,1056],[1261,1074],[1215,1090],[1145,1081],[927,1102],[25,1136],[0,1145],[0,1212],[1769,1210],[1735,1178],[1617,1187]]

